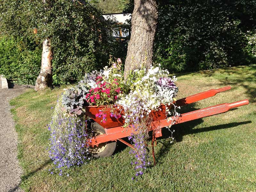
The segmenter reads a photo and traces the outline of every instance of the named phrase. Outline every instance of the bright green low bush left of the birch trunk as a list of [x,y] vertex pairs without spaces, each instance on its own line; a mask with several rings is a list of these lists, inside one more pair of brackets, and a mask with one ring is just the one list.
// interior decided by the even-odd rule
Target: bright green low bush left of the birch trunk
[[40,47],[27,48],[20,38],[0,39],[0,74],[17,84],[34,84],[41,67]]

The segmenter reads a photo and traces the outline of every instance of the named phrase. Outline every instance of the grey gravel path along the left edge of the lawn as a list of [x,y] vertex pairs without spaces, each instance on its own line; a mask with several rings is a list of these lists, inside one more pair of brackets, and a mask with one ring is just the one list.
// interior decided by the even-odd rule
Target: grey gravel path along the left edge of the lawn
[[1,89],[0,78],[0,191],[22,191],[19,188],[22,173],[17,159],[18,136],[14,128],[9,100],[26,89],[15,85],[11,89]]

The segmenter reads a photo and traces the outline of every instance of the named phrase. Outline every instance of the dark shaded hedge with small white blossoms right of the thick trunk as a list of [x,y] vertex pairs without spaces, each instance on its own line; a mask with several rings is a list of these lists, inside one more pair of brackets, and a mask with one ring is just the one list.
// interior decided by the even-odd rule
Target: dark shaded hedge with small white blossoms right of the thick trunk
[[244,32],[255,29],[255,5],[242,0],[161,3],[155,61],[173,72],[248,64],[252,57],[244,51]]

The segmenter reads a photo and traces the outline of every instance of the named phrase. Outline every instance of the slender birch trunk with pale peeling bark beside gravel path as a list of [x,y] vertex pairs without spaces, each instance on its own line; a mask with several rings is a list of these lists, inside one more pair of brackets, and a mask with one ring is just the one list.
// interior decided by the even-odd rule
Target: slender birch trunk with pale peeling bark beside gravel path
[[51,40],[45,39],[43,42],[41,70],[36,79],[35,90],[39,91],[52,86],[52,49]]

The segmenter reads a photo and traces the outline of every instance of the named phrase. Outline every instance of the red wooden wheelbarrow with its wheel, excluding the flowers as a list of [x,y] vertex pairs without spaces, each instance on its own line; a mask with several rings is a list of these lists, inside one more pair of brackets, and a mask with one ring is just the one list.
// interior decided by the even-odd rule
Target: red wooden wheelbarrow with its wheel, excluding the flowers
[[[216,95],[217,93],[227,91],[231,89],[230,86],[223,87],[220,89],[211,89],[206,92],[197,93],[195,95],[188,96],[186,98],[177,100],[175,102],[176,106],[184,106],[189,103],[193,103],[199,100],[203,100],[209,97]],[[187,121],[192,121],[195,119],[199,119],[202,117],[212,116],[220,113],[227,112],[231,108],[236,108],[239,106],[249,104],[249,100],[241,100],[236,101],[234,103],[223,103],[219,105],[215,105],[212,107],[207,107],[203,109],[198,109],[195,111],[191,111],[188,113],[181,114],[175,121],[174,124],[180,124]],[[172,108],[171,106],[167,106]],[[120,110],[120,107],[114,106],[115,110]],[[124,118],[121,116],[120,118],[111,117],[110,113],[113,111],[113,107],[109,106],[87,106],[85,107],[85,114],[91,117],[95,122],[92,123],[92,129],[95,130],[96,135],[92,137],[89,142],[89,145],[93,148],[92,151],[95,157],[105,157],[111,156],[116,148],[116,141],[119,140],[125,145],[133,148],[133,146],[124,141],[122,138],[128,137],[131,133],[134,133],[134,128],[129,125],[127,127],[123,127],[124,125]],[[104,111],[107,115],[107,122],[101,122],[101,119],[96,117],[95,115],[100,111]],[[122,114],[122,111],[120,112]],[[148,131],[153,131],[153,138],[161,137],[162,136],[162,128],[169,126],[172,121],[170,121],[170,117],[167,118],[166,116],[166,106],[161,105],[159,110],[151,111],[150,116],[152,116],[152,123],[148,126]],[[169,119],[169,120],[168,120]],[[152,140],[153,142],[153,140]],[[153,151],[154,154],[154,151]],[[154,156],[154,155],[153,155]]]

